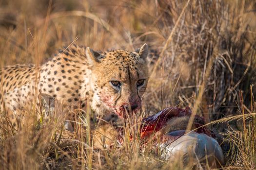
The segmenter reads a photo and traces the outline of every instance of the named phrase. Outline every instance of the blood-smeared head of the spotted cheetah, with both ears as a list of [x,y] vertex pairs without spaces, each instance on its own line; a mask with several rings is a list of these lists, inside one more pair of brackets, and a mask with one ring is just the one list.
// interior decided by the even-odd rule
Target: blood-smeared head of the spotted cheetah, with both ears
[[90,83],[94,95],[100,104],[121,118],[127,118],[127,113],[136,113],[141,108],[141,97],[148,81],[147,54],[147,44],[134,52],[98,53],[86,49],[88,62],[93,68]]

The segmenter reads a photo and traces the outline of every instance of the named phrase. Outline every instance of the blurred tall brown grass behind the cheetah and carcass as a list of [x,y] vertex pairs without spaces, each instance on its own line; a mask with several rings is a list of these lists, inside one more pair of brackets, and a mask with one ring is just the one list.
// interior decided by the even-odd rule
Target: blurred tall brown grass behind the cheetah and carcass
[[[99,51],[135,50],[147,43],[151,76],[143,97],[146,114],[190,106],[211,122],[254,112],[255,0],[0,0],[1,68],[39,65],[71,43]],[[236,132],[249,133],[243,128],[251,122],[212,128],[234,142]],[[227,166],[253,168],[255,136],[240,137],[237,141],[250,142],[231,146],[235,153],[227,150],[227,160],[232,160]],[[240,147],[253,147],[252,153]],[[129,167],[122,163],[117,165]]]

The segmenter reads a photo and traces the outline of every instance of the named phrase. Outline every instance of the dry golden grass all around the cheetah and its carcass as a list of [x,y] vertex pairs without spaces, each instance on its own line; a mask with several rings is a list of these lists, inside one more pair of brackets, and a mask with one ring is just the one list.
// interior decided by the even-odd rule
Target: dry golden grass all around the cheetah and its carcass
[[[148,43],[143,114],[191,106],[224,137],[223,167],[254,169],[255,12],[254,0],[0,0],[0,67],[43,63],[74,41],[102,51]],[[40,122],[36,114],[28,108],[18,132],[0,118],[0,169],[185,169],[138,138],[130,142],[141,118],[127,123],[122,147],[94,150],[84,119],[68,142],[59,139],[62,119]]]

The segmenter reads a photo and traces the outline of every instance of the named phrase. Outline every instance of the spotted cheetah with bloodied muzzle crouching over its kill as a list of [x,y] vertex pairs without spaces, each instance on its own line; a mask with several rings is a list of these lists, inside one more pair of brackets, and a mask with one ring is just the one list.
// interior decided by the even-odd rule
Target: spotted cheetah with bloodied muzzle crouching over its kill
[[147,55],[147,44],[136,51],[105,52],[73,44],[40,66],[2,68],[0,112],[7,110],[11,122],[16,122],[24,105],[46,94],[65,104],[68,120],[74,119],[70,110],[85,110],[88,105],[96,115],[115,113],[125,119],[141,109]]

